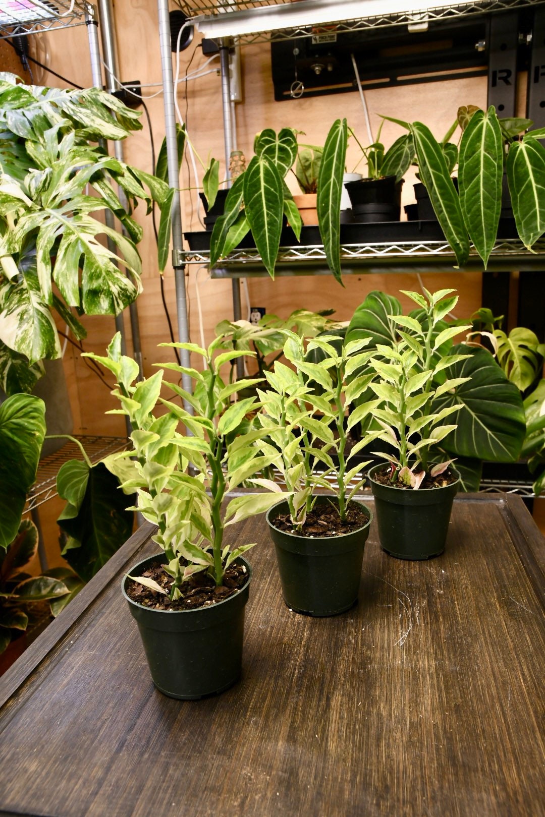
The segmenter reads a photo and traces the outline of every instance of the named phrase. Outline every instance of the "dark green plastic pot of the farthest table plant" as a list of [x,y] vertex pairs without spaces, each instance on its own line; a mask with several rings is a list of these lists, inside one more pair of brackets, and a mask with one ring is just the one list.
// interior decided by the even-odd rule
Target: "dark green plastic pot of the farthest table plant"
[[378,538],[382,550],[397,559],[422,560],[444,551],[450,511],[458,493],[460,475],[444,488],[409,490],[375,482],[373,475],[386,467],[381,462],[369,468],[369,483],[375,498]]

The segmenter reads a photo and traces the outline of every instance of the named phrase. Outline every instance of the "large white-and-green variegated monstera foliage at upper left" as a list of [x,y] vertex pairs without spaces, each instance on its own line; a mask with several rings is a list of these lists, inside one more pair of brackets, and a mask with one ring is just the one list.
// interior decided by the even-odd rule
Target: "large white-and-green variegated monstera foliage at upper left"
[[[141,128],[139,116],[98,88],[26,86],[0,74],[0,385],[8,394],[30,391],[42,359],[60,357],[55,313],[81,339],[73,310],[117,315],[141,291],[142,229],[132,210],[139,199],[148,212],[152,199],[163,205],[168,185],[92,145],[124,139]],[[126,235],[93,217],[104,209]]]

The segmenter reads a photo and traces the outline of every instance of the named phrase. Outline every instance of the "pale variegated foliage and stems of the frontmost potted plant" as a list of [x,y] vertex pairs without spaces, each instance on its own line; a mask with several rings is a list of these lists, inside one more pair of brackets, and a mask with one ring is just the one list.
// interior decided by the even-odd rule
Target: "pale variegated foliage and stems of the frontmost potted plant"
[[[174,578],[172,597],[176,598],[181,584],[201,570],[206,570],[221,585],[226,568],[255,544],[239,544],[230,550],[223,542],[226,527],[267,511],[285,494],[275,483],[257,479],[256,483],[267,493],[242,494],[224,505],[228,493],[239,488],[244,480],[251,480],[273,460],[272,454],[262,454],[254,445],[267,427],[239,434],[244,417],[260,408],[257,399],[251,397],[230,404],[232,395],[255,385],[259,379],[226,384],[220,375],[221,366],[252,353],[233,350],[223,337],[217,337],[208,349],[193,343],[162,346],[187,349],[203,357],[202,372],[162,364],[163,368],[194,378],[193,395],[176,383],[165,381],[163,369],[136,382],[138,366],[132,358],[121,355],[118,334],[108,347],[108,357],[92,354],[87,357],[101,363],[116,377],[117,387],[112,394],[121,408],[115,413],[130,418],[134,449],[119,455],[117,467],[111,461],[110,465],[123,481],[122,488],[136,489],[136,510],[158,526],[153,538],[167,556],[165,569]],[[194,414],[161,397],[163,386],[189,403]],[[183,433],[184,426],[187,434]]]

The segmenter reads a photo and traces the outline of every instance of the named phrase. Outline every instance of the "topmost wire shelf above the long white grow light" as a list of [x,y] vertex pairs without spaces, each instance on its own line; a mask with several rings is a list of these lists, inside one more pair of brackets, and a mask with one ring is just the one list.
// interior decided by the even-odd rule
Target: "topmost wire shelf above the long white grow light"
[[[220,15],[248,16],[252,11],[259,12],[275,6],[286,6],[290,0],[176,0],[177,5],[190,18],[199,17],[204,20],[207,16],[216,18]],[[288,25],[274,32],[262,31],[257,33],[244,33],[237,38],[239,42],[268,42],[271,38],[275,40],[290,40],[296,37],[313,37],[319,33],[349,33],[364,31],[369,29],[386,28],[392,25],[422,25],[422,23],[433,23],[438,20],[452,20],[459,17],[475,16],[489,12],[509,11],[521,7],[539,5],[543,0],[474,0],[474,2],[456,3],[450,6],[443,6],[431,9],[419,9],[418,2],[415,8],[409,12],[380,15],[373,17],[360,17],[354,20],[338,20],[327,25],[298,25],[288,28]],[[210,35],[212,36],[212,35]]]

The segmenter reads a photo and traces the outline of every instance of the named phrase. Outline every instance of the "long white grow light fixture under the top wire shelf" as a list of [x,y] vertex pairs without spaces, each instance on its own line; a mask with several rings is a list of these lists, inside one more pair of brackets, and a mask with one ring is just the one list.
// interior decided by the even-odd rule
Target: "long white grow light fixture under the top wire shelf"
[[[194,17],[197,29],[206,38],[237,37],[281,29],[302,29],[319,25],[403,16],[405,22],[422,22],[427,11],[448,8],[471,11],[490,11],[524,5],[520,0],[297,0],[297,2],[248,8],[244,2],[220,0],[217,13]],[[531,0],[526,4],[531,5]],[[469,9],[467,9],[469,11]]]

